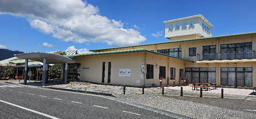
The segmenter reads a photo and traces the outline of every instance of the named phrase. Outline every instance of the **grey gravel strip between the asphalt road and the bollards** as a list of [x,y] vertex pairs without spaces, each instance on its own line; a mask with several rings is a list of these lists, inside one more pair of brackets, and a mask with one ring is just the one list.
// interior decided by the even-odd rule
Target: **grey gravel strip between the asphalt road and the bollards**
[[117,98],[198,119],[256,119],[256,114],[172,99],[159,94],[116,94]]

